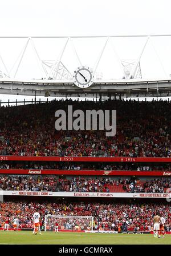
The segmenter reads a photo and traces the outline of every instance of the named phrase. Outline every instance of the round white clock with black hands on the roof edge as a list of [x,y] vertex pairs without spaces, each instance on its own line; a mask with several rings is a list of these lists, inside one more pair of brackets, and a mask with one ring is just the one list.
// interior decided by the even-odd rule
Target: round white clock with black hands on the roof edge
[[87,88],[93,83],[93,71],[88,66],[80,66],[74,71],[74,84],[80,88]]

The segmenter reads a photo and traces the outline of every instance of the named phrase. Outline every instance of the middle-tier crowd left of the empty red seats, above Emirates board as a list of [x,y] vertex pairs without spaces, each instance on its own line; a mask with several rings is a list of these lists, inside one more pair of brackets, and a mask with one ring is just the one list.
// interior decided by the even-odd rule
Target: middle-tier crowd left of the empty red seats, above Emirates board
[[57,178],[57,176],[1,175],[1,190],[12,191],[66,191],[66,192],[109,192],[111,178]]

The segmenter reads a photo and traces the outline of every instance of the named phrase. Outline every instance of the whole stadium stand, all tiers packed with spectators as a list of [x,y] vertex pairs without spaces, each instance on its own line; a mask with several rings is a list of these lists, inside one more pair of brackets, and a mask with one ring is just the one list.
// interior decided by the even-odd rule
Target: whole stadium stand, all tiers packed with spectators
[[[116,136],[106,137],[102,131],[56,131],[55,111],[67,111],[70,104],[74,109],[83,110],[116,109]],[[66,192],[101,192],[103,195],[116,192],[127,194],[128,202],[131,193],[164,194],[171,187],[171,179],[164,176],[165,171],[166,175],[170,175],[171,170],[170,104],[168,101],[131,100],[86,101],[86,104],[82,104],[79,101],[54,100],[51,103],[1,107],[0,189],[64,192],[64,197],[64,194],[68,194]],[[10,159],[13,156],[20,158]],[[31,158],[23,159],[25,156]],[[59,159],[48,160],[48,156],[59,156]],[[71,162],[62,158],[68,156],[89,158],[85,162],[80,159]],[[100,162],[96,160],[100,159],[99,157],[109,157],[109,160]],[[121,159],[112,162],[116,157]],[[131,157],[132,160],[129,159],[129,162],[122,157]],[[147,160],[142,161],[138,157]],[[47,175],[50,170],[50,175]],[[39,171],[40,175],[32,175],[34,172],[36,174],[36,171]],[[57,175],[57,171],[61,171],[61,174]],[[65,173],[66,171],[74,173],[70,175]],[[78,171],[84,171],[84,176],[78,174]],[[93,171],[99,171],[101,176]],[[117,175],[110,176],[112,171],[117,171]],[[122,171],[124,174],[120,176],[118,172]],[[125,172],[129,172],[129,175]],[[157,172],[160,172],[158,176]],[[89,198],[87,202],[81,202],[82,199],[78,196],[78,202],[65,202],[63,198],[63,202],[59,203],[52,197],[53,202],[48,202],[49,196],[45,202],[42,195],[39,202],[32,198],[31,201],[29,196],[27,199],[21,197],[20,200],[16,200],[15,195],[13,200],[10,195],[7,196],[9,199],[0,203],[0,227],[3,227],[7,215],[10,220],[17,215],[20,228],[32,229],[32,214],[36,208],[41,214],[43,225],[44,216],[47,214],[93,215],[94,229],[101,227],[103,230],[116,231],[150,231],[153,216],[160,211],[166,218],[165,231],[171,231],[171,208],[170,204],[166,203],[166,198],[165,203],[140,203],[141,198],[132,199],[132,203],[119,203],[119,200],[113,203],[112,200],[107,202],[101,198],[97,203]]]

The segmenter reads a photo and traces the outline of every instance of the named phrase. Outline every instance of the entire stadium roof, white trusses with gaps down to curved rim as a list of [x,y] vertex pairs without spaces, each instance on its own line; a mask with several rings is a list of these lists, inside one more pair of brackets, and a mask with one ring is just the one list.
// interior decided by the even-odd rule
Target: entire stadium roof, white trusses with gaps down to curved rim
[[[0,93],[51,97],[170,97],[171,35],[0,37]],[[58,56],[58,57],[56,57]],[[93,84],[74,84],[78,66]]]

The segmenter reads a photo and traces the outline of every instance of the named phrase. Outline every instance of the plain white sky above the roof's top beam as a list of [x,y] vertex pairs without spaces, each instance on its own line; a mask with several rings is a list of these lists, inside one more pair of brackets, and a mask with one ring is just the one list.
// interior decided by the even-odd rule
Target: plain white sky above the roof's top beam
[[1,0],[3,36],[170,33],[169,0]]

